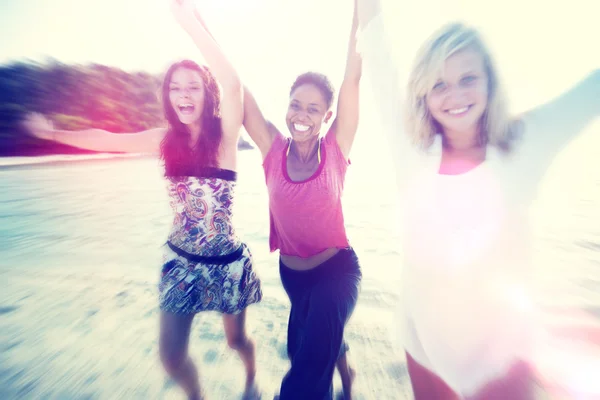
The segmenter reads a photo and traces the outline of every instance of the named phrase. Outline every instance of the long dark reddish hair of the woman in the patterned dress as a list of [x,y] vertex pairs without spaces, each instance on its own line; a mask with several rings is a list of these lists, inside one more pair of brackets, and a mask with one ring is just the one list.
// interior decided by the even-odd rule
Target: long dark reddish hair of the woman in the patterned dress
[[[204,83],[200,136],[194,148],[190,147],[189,128],[177,116],[169,99],[169,84],[175,71],[186,68],[197,71]],[[165,163],[165,176],[197,176],[204,167],[218,167],[217,155],[221,145],[220,92],[217,81],[207,67],[183,60],[169,67],[162,84],[162,103],[168,129],[160,145]]]

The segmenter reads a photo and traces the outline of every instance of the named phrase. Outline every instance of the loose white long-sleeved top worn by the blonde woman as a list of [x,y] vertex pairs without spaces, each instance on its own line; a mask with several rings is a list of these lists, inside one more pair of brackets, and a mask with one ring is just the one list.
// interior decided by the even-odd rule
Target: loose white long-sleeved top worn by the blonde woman
[[403,346],[468,396],[532,359],[529,208],[553,157],[600,115],[600,71],[525,116],[511,154],[490,146],[473,170],[441,175],[441,137],[426,152],[408,142],[389,42],[381,15],[359,37],[401,190]]

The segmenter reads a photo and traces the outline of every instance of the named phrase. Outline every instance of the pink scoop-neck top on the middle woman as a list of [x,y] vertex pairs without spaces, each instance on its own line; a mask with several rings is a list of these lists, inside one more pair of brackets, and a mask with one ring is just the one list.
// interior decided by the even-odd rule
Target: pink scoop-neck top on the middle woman
[[321,164],[310,178],[292,181],[286,152],[291,138],[278,135],[263,168],[269,192],[271,252],[310,257],[350,246],[344,227],[342,193],[349,162],[330,130],[321,141]]

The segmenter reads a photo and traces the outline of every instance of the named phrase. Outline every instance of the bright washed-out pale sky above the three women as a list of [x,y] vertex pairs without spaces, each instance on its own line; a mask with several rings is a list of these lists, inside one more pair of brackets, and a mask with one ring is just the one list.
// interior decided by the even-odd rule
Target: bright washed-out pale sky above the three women
[[[597,0],[384,0],[397,57],[442,23],[463,20],[484,34],[516,111],[559,94],[600,67]],[[199,0],[199,10],[266,109],[285,106],[295,76],[343,76],[352,0]],[[0,63],[54,58],[127,71],[163,72],[202,61],[166,0],[0,0]],[[274,112],[280,112],[276,107]]]

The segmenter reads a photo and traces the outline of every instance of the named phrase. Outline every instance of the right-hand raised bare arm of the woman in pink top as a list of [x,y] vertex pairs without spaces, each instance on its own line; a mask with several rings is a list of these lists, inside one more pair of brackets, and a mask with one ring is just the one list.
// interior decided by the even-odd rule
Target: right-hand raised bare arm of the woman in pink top
[[356,34],[358,32],[358,0],[354,0],[352,28],[348,42],[348,58],[346,72],[340,87],[337,117],[334,121],[335,134],[340,149],[346,158],[356,136],[359,118],[359,88],[362,75],[362,58],[356,49]]

